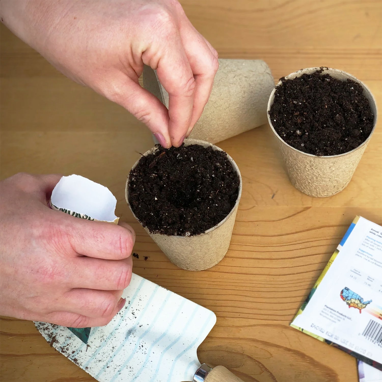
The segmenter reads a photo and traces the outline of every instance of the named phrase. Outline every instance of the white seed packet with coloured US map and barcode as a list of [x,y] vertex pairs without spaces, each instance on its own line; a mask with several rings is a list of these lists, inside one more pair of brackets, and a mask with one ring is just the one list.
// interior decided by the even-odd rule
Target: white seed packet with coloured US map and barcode
[[357,216],[291,327],[382,370],[382,227]]

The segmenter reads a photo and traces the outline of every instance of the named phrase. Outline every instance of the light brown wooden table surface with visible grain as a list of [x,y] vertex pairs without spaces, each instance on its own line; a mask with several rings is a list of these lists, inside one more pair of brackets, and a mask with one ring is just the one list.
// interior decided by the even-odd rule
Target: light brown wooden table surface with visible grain
[[[366,83],[382,110],[379,0],[182,4],[221,58],[261,58],[275,79],[312,66],[342,69]],[[117,215],[137,232],[134,251],[142,256],[134,272],[214,311],[217,323],[199,359],[244,381],[358,380],[353,357],[288,325],[354,216],[382,223],[380,121],[350,185],[324,199],[291,185],[269,126],[220,142],[243,175],[231,246],[212,269],[187,272],[167,260],[125,203],[126,175],[152,146],[148,129],[1,26],[1,178],[77,173],[110,188]],[[93,379],[32,322],[5,317],[1,380]]]

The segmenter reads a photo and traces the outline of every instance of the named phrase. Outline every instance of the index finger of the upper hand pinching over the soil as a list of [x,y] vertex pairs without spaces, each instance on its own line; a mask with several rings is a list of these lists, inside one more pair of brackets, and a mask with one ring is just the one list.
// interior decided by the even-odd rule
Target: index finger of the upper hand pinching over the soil
[[169,44],[159,60],[157,75],[168,92],[168,131],[173,146],[179,147],[191,124],[194,105],[195,80],[180,39]]

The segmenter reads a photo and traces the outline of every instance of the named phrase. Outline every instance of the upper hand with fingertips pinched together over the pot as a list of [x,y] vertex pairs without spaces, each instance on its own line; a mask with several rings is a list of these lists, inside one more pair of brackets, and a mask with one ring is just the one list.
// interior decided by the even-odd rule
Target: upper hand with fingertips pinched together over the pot
[[[2,1],[3,22],[74,81],[120,104],[163,147],[180,146],[206,105],[219,63],[176,0]],[[167,108],[138,82],[157,70]]]

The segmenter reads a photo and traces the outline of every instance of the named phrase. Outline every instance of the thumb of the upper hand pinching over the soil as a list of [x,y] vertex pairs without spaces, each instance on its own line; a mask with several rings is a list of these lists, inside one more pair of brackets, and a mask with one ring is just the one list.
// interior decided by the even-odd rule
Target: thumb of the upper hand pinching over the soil
[[139,83],[130,78],[114,79],[115,86],[111,101],[121,105],[139,121],[143,122],[157,138],[158,142],[165,148],[171,147],[171,139],[168,132],[168,110],[155,95],[141,87]]

